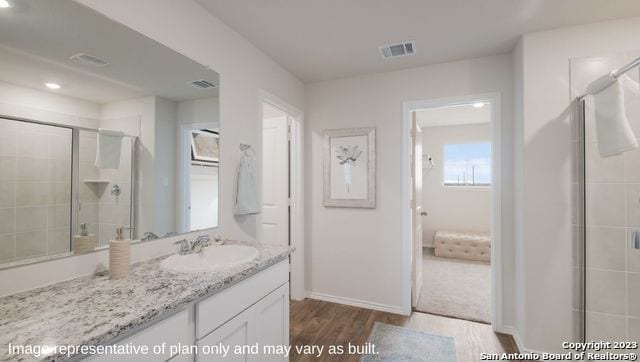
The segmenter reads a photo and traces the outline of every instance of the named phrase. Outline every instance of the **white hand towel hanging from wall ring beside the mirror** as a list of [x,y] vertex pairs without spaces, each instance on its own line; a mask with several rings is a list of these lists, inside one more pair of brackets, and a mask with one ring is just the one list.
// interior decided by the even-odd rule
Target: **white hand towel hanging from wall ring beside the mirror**
[[247,154],[240,159],[238,169],[238,193],[234,215],[252,215],[260,213],[258,202],[258,180],[256,178],[256,160]]

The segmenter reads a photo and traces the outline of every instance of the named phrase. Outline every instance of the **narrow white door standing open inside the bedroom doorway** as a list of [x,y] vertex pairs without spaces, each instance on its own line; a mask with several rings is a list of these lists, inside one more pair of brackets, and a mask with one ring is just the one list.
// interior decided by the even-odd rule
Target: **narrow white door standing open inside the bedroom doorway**
[[412,212],[412,306],[418,305],[422,290],[422,131],[416,122],[415,112],[411,119],[411,212]]

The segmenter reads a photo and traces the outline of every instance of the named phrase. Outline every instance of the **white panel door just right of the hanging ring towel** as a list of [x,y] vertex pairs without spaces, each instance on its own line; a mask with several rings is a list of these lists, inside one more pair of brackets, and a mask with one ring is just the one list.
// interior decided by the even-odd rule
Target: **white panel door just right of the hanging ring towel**
[[262,128],[262,240],[289,245],[289,140],[286,116]]

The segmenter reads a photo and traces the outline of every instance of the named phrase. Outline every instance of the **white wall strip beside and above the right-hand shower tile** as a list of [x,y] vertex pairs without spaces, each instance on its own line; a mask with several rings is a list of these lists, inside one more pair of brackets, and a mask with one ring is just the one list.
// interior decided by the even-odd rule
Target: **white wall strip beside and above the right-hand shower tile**
[[577,280],[572,273],[575,160],[569,59],[638,50],[638,33],[636,17],[527,34],[514,56],[518,63],[522,57],[515,115],[521,134],[515,138],[523,165],[517,185],[523,197],[521,226],[516,234],[516,260],[522,261],[516,284],[523,288],[516,299],[524,310],[516,320],[527,349],[561,351],[561,341],[578,337],[579,314],[572,311]]

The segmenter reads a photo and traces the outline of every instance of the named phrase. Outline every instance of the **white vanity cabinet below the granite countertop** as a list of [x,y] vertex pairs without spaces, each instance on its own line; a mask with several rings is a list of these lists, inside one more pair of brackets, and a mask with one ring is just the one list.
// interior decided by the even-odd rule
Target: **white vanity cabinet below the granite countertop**
[[[263,346],[289,345],[289,262],[279,262],[146,327],[116,344],[197,345],[198,355],[93,356],[92,361],[286,361],[263,354]],[[217,352],[229,346],[226,358]],[[234,354],[235,346],[256,346]],[[208,353],[203,353],[208,352]]]

